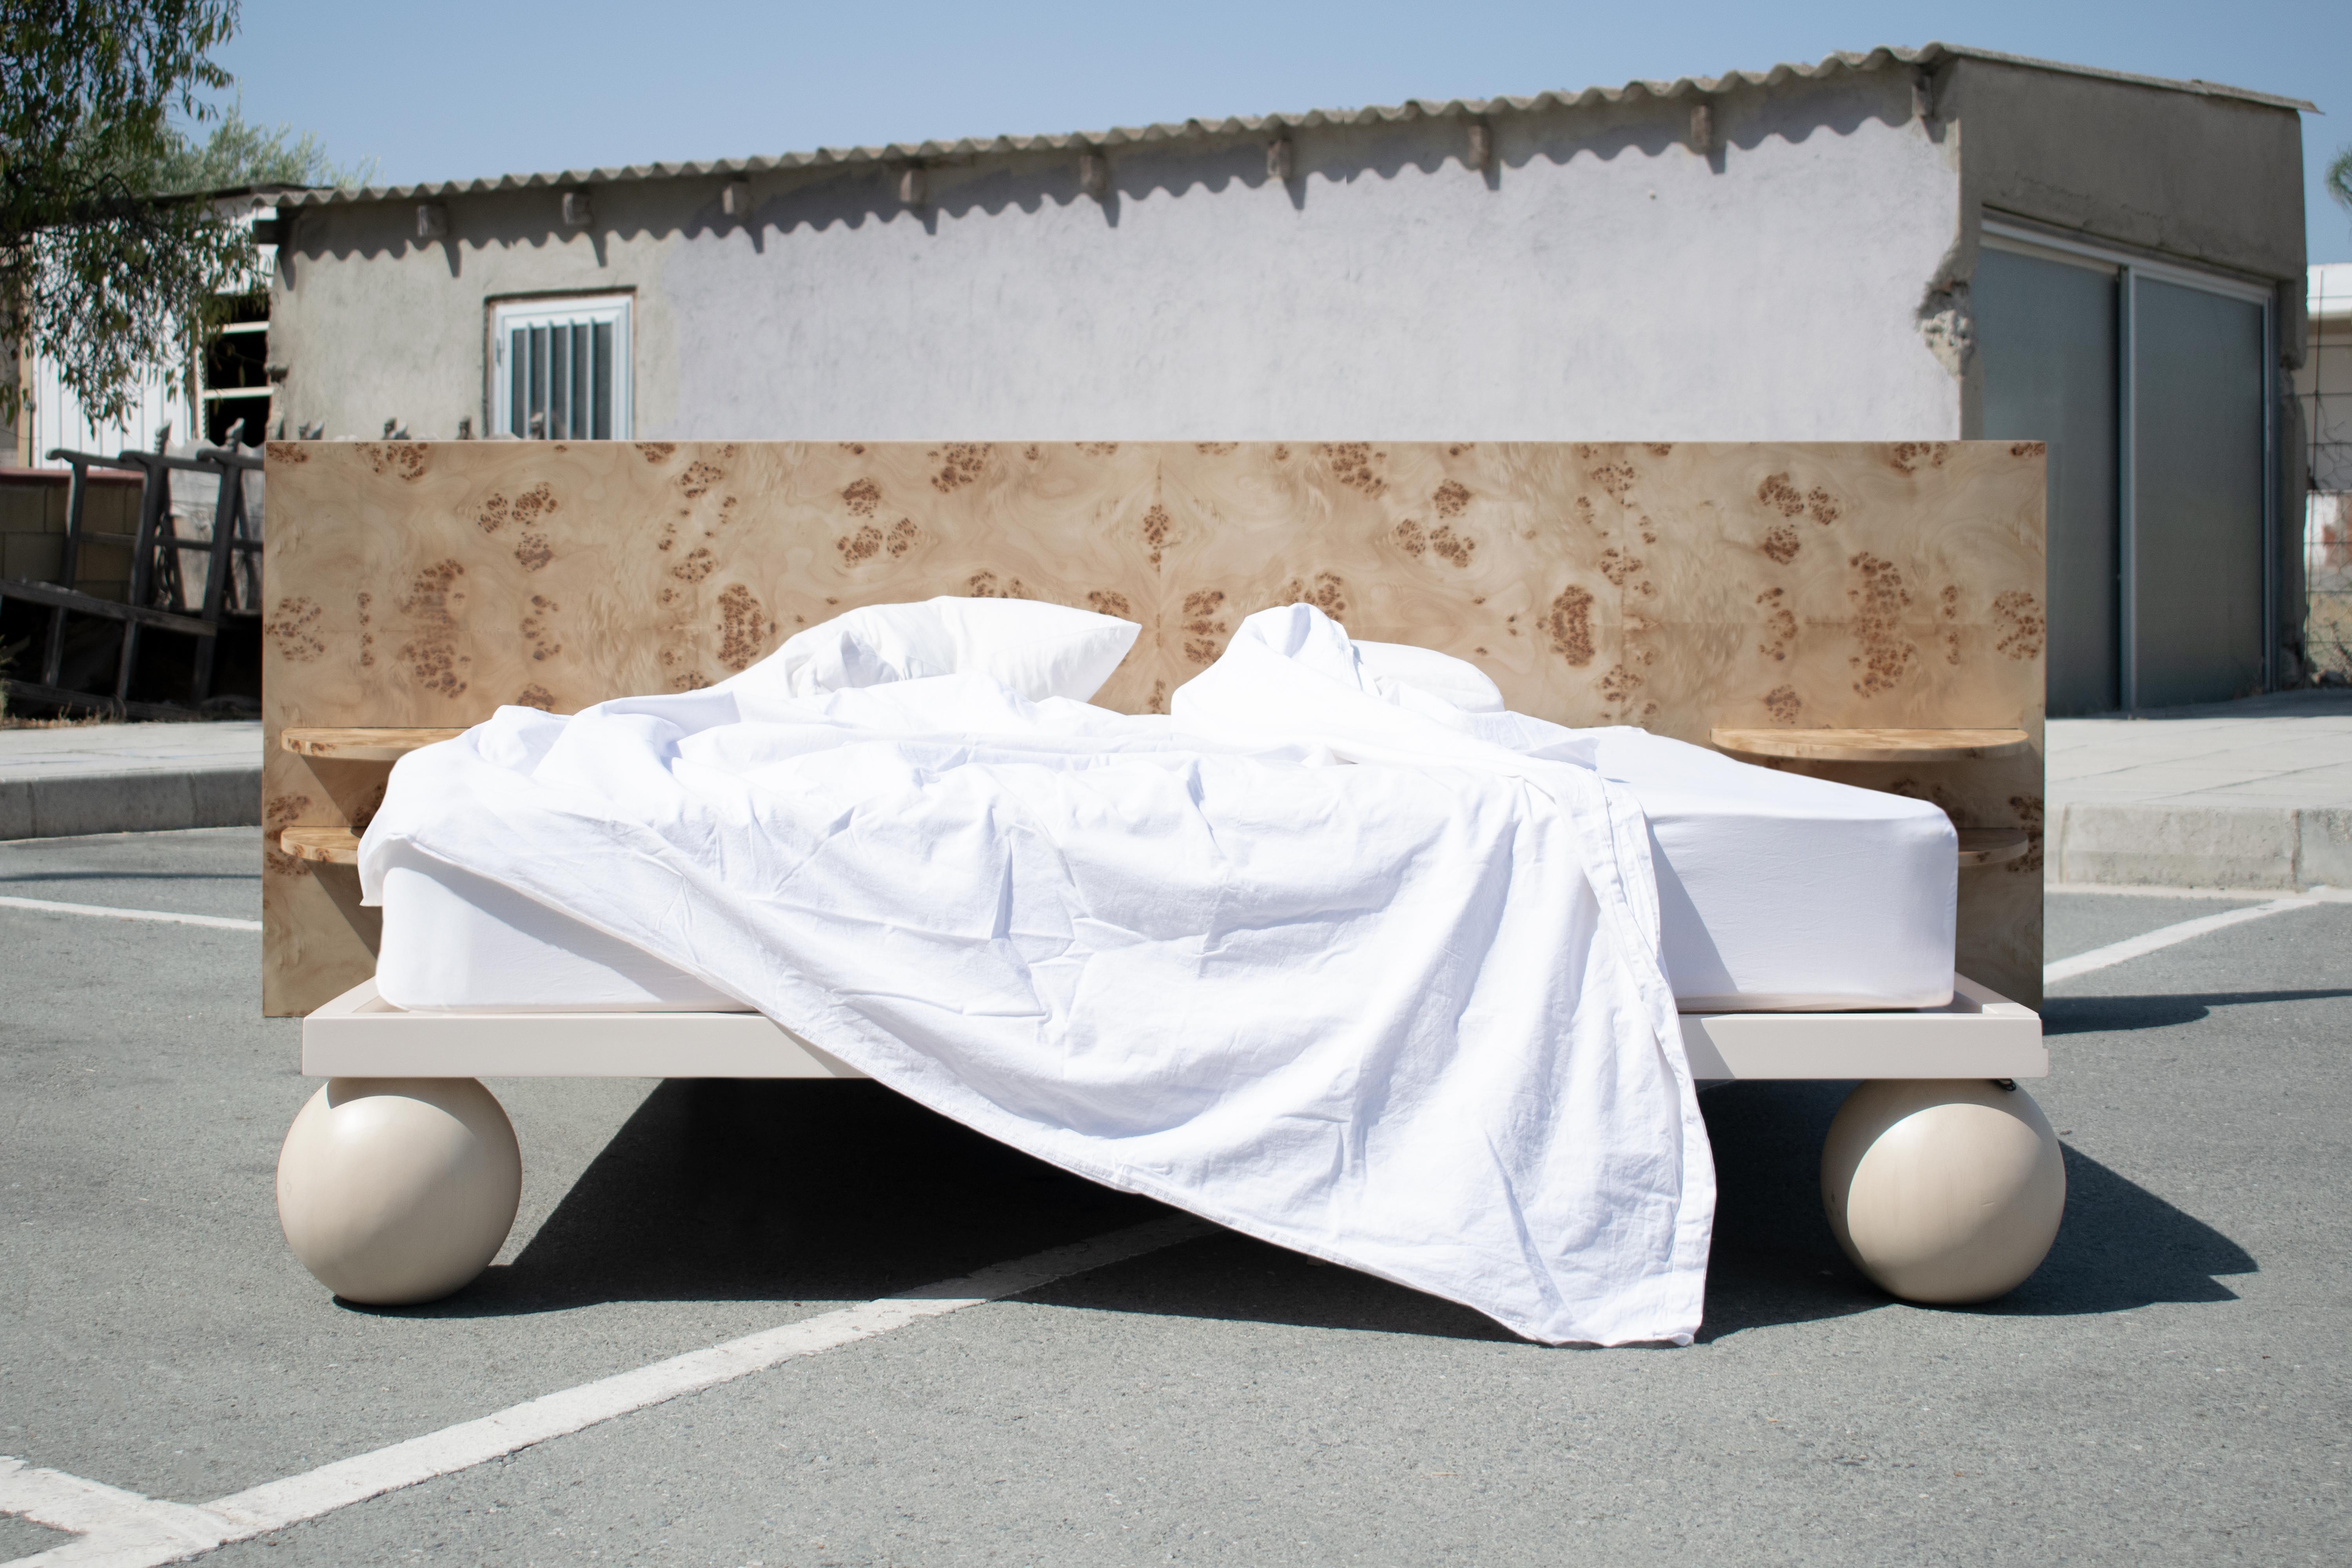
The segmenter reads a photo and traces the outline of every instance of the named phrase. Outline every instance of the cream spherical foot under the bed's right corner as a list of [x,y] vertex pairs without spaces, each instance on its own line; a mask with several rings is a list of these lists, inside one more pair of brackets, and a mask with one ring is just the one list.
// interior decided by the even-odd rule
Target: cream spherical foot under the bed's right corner
[[1830,1229],[1889,1295],[1985,1302],[2025,1284],[2058,1239],[2065,1157],[2023,1088],[1877,1079],[1820,1150]]

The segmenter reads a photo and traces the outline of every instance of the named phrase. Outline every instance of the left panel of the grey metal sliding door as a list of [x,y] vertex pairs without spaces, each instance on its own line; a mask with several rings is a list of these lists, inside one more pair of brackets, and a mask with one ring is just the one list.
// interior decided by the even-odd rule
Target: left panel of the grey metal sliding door
[[1976,263],[1985,440],[2049,442],[2049,710],[2122,703],[2117,268],[1987,249]]

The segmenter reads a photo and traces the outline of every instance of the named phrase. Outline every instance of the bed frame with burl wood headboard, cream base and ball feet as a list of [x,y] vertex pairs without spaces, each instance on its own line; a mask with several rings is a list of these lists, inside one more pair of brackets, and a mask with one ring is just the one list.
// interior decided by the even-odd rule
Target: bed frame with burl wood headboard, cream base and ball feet
[[[1957,830],[1950,952],[1896,973],[1820,900],[1766,919],[1886,1001],[1947,966],[2037,997],[2039,442],[273,442],[268,487],[263,1011],[306,1016],[303,1072],[327,1079],[287,1135],[280,1215],[350,1300],[447,1295],[506,1241],[522,1164],[480,1079],[861,1077],[757,1013],[405,1013],[353,987],[426,997],[355,917],[386,769],[499,705],[724,682],[858,607],[1131,618],[1091,701],[1164,712],[1240,616],[1315,602],[1350,637],[1475,663],[1510,712],[1933,799]],[[1766,837],[1733,844],[1722,886],[1818,870]],[[1703,1081],[1860,1081],[1823,1199],[1896,1295],[1999,1295],[2056,1237],[2065,1166],[2018,1088],[2049,1072],[2042,1025],[1994,990],[1682,1020]]]

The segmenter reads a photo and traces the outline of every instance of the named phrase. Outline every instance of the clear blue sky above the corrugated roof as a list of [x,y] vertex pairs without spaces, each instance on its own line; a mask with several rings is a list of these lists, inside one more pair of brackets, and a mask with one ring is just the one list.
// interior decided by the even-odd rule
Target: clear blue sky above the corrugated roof
[[454,5],[247,0],[221,52],[252,120],[383,181],[1192,115],[1489,99],[1762,71],[1929,40],[2317,103],[2312,261],[2352,259],[2319,172],[2352,143],[2352,0],[2013,5]]

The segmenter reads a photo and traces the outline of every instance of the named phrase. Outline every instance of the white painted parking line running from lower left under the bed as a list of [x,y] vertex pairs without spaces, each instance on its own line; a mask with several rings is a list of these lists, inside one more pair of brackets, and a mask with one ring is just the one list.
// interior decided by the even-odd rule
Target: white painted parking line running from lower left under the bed
[[270,1481],[202,1507],[158,1502],[139,1493],[115,1490],[54,1469],[31,1469],[21,1460],[0,1458],[0,1514],[24,1514],[33,1523],[75,1530],[80,1540],[33,1556],[19,1556],[0,1568],[158,1568],[200,1556],[233,1540],[252,1540],[303,1519],[381,1497],[433,1476],[470,1469],[485,1460],[564,1436],[647,1406],[734,1382],[797,1356],[814,1356],[840,1345],[856,1345],[917,1319],[943,1316],[1049,1286],[1070,1274],[1101,1269],[1141,1258],[1209,1232],[1192,1215],[1150,1220],[1115,1229],[1094,1241],[1056,1246],[1011,1262],[985,1267],[964,1279],[884,1295],[840,1312],[826,1312],[781,1328],[687,1352],[633,1373],[616,1373],[576,1389],[529,1399],[480,1420],[428,1432],[390,1448],[376,1448],[350,1460]]

